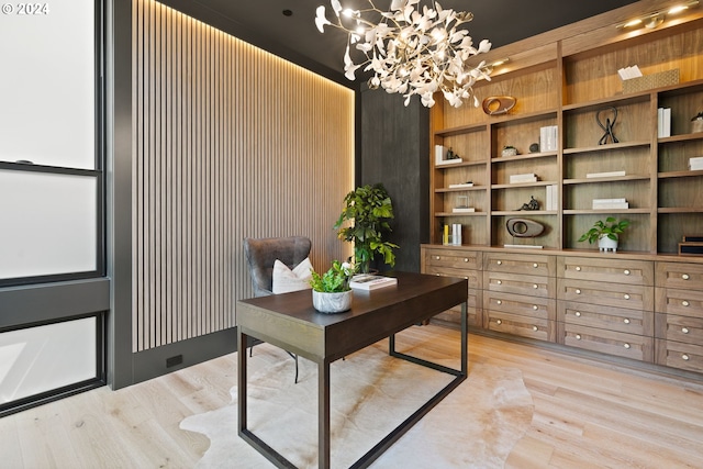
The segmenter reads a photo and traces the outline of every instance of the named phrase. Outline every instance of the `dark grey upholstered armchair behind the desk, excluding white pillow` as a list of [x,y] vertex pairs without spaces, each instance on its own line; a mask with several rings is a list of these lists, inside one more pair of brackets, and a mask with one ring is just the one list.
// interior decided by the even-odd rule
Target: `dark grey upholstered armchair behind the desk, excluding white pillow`
[[[252,287],[255,297],[274,294],[274,264],[280,260],[289,269],[295,268],[310,255],[312,243],[304,236],[244,238]],[[249,343],[249,356],[256,343]],[[286,350],[295,360],[295,382],[298,382],[298,355]]]

